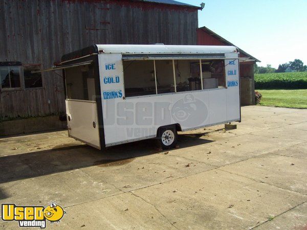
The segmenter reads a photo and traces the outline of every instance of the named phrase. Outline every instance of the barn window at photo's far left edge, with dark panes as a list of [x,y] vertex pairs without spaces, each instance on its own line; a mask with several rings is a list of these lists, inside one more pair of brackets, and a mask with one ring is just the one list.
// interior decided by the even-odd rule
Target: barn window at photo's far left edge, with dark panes
[[20,66],[19,65],[1,65],[0,79],[2,89],[20,88]]

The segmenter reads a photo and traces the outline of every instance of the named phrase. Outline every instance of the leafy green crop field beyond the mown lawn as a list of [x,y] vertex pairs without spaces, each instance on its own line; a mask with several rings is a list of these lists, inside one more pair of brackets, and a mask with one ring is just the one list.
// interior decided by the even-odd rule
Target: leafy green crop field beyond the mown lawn
[[307,89],[307,72],[255,74],[255,88]]

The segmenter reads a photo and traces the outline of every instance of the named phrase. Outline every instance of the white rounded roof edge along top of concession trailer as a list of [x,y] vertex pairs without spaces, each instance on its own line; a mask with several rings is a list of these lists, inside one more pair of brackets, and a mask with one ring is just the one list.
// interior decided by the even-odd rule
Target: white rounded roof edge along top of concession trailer
[[97,44],[99,53],[116,54],[226,54],[236,53],[236,47],[226,45],[135,45]]

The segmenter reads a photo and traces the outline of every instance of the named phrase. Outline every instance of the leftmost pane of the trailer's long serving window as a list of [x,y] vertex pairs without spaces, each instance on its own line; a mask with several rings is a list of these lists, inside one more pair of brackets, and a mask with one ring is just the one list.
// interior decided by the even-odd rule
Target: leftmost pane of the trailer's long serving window
[[153,60],[123,61],[123,68],[126,97],[156,94]]

